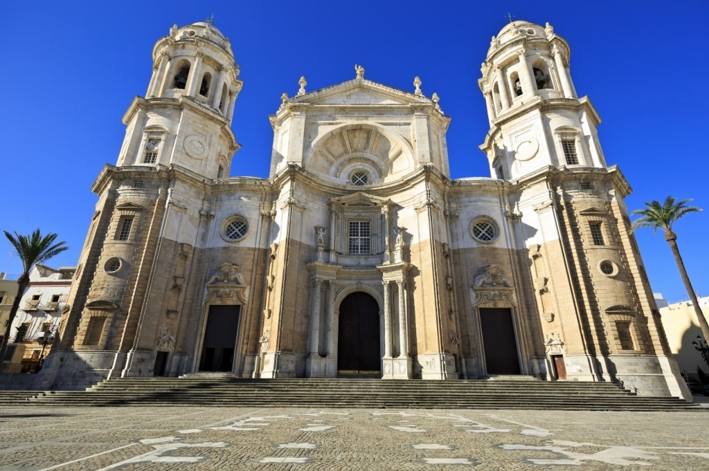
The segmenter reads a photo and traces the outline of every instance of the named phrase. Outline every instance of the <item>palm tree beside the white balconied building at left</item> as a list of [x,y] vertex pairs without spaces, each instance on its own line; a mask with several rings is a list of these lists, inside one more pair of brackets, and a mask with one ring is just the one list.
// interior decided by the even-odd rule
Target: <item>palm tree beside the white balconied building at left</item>
[[30,284],[30,270],[37,263],[42,263],[51,259],[53,256],[60,254],[69,247],[65,246],[66,242],[57,242],[55,244],[55,239],[57,239],[57,234],[47,234],[42,236],[40,234],[40,229],[35,229],[32,235],[20,235],[15,232],[13,236],[7,231],[5,232],[5,237],[10,241],[12,246],[15,248],[17,255],[22,261],[23,272],[20,278],[17,279],[17,296],[15,297],[15,302],[12,304],[10,309],[10,318],[7,322],[7,327],[5,329],[5,335],[2,339],[2,346],[0,348],[0,359],[5,358],[5,353],[7,351],[7,342],[10,338],[12,322],[15,320],[17,311],[20,307],[20,300],[22,295],[25,294],[27,286]]

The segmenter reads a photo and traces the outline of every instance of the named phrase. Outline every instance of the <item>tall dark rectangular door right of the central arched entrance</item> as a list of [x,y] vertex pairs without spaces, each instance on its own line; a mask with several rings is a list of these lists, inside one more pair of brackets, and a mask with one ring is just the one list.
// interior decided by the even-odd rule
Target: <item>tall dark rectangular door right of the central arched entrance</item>
[[512,311],[500,307],[481,307],[480,326],[483,331],[487,373],[489,375],[520,374]]

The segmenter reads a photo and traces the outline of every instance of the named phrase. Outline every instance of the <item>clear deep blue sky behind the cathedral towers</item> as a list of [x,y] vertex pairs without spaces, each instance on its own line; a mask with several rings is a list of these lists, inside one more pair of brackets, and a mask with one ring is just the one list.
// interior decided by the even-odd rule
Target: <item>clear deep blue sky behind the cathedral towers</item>
[[[281,93],[293,96],[301,75],[308,91],[352,79],[354,64],[364,65],[367,79],[407,91],[420,76],[423,92],[437,92],[452,116],[452,177],[489,176],[478,149],[488,123],[476,81],[508,12],[548,21],[571,45],[576,90],[601,115],[605,158],[633,188],[630,210],[674,195],[709,211],[706,1],[9,0],[0,5],[0,229],[57,232],[70,249],[49,264],[77,263],[96,203],[89,188],[104,164],[116,163],[121,117],[133,96],[145,95],[152,46],[173,23],[212,14],[244,81],[233,176],[267,176],[268,115]],[[708,218],[692,213],[675,227],[700,295],[709,295]],[[637,239],[653,290],[670,302],[686,299],[664,237],[641,229]],[[0,271],[16,277],[21,264],[11,251],[3,237]]]

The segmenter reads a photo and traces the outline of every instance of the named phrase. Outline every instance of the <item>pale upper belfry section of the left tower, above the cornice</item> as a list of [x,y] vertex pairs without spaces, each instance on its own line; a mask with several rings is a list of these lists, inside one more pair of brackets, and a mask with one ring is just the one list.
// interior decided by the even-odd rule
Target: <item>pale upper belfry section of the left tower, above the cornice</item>
[[238,149],[230,129],[242,81],[230,41],[211,23],[170,28],[152,50],[145,98],[123,116],[118,166],[181,166],[206,178],[229,176]]

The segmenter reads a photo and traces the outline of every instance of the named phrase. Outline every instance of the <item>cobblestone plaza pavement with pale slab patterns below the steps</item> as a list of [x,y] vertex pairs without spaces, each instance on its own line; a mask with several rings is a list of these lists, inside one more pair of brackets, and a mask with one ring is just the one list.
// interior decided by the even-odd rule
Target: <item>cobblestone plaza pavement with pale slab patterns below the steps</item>
[[0,470],[708,470],[709,410],[0,407]]

